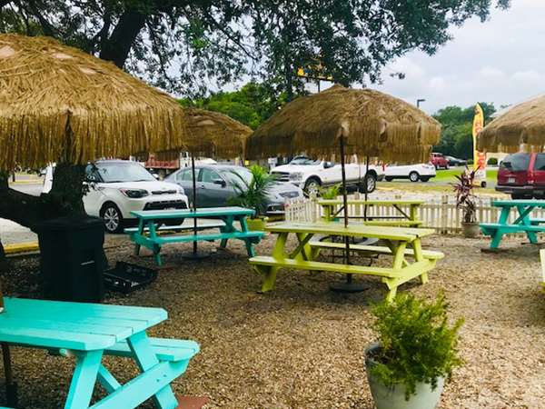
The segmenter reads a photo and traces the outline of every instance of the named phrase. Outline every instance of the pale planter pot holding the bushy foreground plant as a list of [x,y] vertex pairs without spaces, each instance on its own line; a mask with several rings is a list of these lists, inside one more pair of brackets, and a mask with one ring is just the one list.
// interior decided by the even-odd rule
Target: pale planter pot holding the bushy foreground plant
[[405,386],[395,384],[388,387],[382,384],[371,374],[371,368],[376,365],[372,353],[379,348],[379,344],[372,344],[365,350],[365,366],[371,394],[377,409],[435,409],[441,400],[444,378],[437,380],[437,387],[432,390],[431,384],[416,384],[416,394],[405,400]]

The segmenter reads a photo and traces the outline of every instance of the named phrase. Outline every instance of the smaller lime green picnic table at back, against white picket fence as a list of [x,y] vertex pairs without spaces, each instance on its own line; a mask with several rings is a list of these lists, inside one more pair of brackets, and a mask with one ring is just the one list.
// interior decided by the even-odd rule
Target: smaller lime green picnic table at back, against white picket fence
[[[363,214],[349,214],[351,219],[362,219],[366,218],[364,222],[368,225],[389,225],[389,226],[407,226],[407,227],[418,227],[421,225],[421,221],[418,220],[417,209],[419,206],[423,205],[423,200],[402,200],[402,199],[393,199],[393,200],[364,200],[364,199],[349,199],[347,205],[358,205],[365,206],[367,208],[373,206],[388,206],[395,209],[398,215],[367,215],[364,209]],[[341,199],[321,199],[318,200],[318,205],[323,207],[324,211],[324,220],[332,221],[337,218],[337,215],[342,211],[342,200]],[[409,213],[403,210],[403,207],[409,207]]]

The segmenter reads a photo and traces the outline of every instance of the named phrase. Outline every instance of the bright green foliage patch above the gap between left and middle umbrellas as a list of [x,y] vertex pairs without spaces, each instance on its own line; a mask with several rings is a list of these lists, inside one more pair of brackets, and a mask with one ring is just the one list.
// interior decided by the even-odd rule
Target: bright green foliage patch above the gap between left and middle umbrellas
[[285,103],[285,95],[278,98],[263,84],[243,85],[239,91],[219,92],[204,98],[181,99],[183,106],[194,106],[231,116],[256,129]]

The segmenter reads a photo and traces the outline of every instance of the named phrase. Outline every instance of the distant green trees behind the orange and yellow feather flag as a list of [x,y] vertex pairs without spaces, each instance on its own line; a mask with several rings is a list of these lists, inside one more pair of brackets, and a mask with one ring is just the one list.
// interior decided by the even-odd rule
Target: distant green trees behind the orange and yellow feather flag
[[[491,121],[491,115],[496,112],[493,104],[479,103],[484,113],[484,124]],[[460,106],[447,106],[440,109],[433,115],[435,119],[441,122],[441,141],[439,145],[433,147],[441,154],[452,155],[464,159],[473,157],[473,115],[474,105],[467,108]]]

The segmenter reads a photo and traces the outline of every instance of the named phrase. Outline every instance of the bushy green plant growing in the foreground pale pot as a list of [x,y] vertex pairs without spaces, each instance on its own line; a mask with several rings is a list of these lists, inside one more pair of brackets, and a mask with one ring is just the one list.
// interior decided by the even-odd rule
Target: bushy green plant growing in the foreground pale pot
[[435,389],[439,377],[450,379],[452,369],[461,364],[457,344],[463,319],[449,325],[447,309],[442,294],[434,302],[401,294],[372,309],[380,343],[372,356],[377,362],[372,374],[389,387],[403,384],[407,400],[417,383]]

